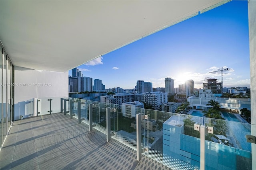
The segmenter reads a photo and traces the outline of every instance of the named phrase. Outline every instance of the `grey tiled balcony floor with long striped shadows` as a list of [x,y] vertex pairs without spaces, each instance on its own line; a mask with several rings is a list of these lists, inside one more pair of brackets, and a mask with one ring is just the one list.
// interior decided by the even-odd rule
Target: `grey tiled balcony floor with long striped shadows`
[[14,121],[0,151],[2,170],[164,170],[168,167],[142,156],[69,115],[54,113]]

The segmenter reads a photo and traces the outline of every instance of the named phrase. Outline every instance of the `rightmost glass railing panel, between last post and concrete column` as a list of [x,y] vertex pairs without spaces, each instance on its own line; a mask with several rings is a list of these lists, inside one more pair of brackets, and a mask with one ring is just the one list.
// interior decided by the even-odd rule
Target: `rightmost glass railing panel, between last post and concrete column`
[[204,118],[205,124],[213,127],[214,134],[206,135],[206,169],[252,169],[251,125],[236,121]]

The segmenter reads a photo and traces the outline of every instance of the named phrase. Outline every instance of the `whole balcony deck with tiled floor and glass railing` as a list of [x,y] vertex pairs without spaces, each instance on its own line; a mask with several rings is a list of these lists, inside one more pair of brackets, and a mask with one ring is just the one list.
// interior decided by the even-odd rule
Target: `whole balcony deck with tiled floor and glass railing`
[[[251,144],[244,137],[250,135],[247,123],[142,108],[137,109],[148,118],[135,113],[128,118],[116,104],[105,108],[101,102],[76,98],[30,101],[27,113],[35,108],[41,116],[14,121],[0,152],[1,169],[199,170],[200,133],[194,124],[214,130],[205,135],[206,169],[252,169]],[[148,121],[159,127],[147,128]],[[134,129],[131,122],[143,128]]]

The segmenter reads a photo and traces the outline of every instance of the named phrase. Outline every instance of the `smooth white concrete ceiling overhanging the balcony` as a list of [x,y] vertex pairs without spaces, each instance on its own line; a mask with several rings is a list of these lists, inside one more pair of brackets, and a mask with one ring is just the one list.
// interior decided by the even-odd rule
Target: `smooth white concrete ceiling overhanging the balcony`
[[65,72],[219,2],[1,0],[0,39],[15,66]]

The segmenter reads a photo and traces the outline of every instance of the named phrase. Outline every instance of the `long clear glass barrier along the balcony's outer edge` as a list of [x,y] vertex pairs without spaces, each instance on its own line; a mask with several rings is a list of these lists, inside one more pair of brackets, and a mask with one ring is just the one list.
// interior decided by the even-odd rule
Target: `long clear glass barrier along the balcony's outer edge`
[[[51,106],[52,113],[59,112],[60,98],[52,99],[58,101],[52,102],[56,105]],[[40,100],[42,106],[47,107],[42,113],[49,114],[48,98]],[[203,169],[201,166],[207,170],[252,169],[251,143],[246,139],[246,135],[251,135],[251,125],[239,119],[212,119],[76,98],[68,98],[66,102],[67,114],[76,119],[80,114],[81,121],[87,125],[91,114],[93,128],[104,134],[107,134],[110,114],[111,138],[134,150],[139,137],[136,116],[141,114],[142,154],[174,170],[199,170]],[[201,155],[200,150],[204,150],[204,154]]]

